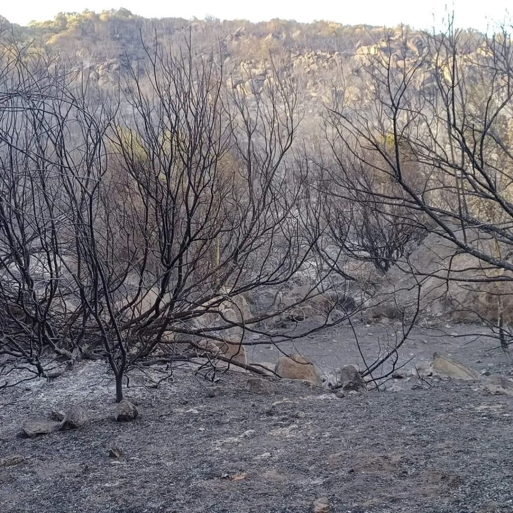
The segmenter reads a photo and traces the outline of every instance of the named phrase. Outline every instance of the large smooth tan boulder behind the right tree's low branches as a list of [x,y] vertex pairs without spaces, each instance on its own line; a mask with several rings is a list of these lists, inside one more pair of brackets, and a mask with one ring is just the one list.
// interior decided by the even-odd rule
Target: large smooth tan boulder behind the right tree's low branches
[[[461,230],[456,236],[463,240]],[[468,245],[486,254],[506,255],[509,247],[488,234],[467,230]],[[504,281],[492,281],[503,277]],[[513,273],[494,268],[437,233],[429,234],[408,260],[400,260],[383,278],[366,310],[370,318],[411,318],[416,314],[440,322],[513,321]],[[468,280],[468,281],[465,281]],[[482,280],[482,281],[477,281]],[[488,280],[488,281],[486,281]],[[490,281],[491,280],[491,281]]]

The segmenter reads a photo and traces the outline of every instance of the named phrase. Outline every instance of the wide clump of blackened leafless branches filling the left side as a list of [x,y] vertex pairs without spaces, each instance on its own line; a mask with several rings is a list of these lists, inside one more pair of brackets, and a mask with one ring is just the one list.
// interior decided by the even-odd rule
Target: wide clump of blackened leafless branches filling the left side
[[[40,376],[47,349],[96,354],[117,401],[135,366],[192,347],[249,367],[245,345],[320,329],[336,304],[321,326],[275,329],[329,272],[309,264],[289,173],[292,77],[270,64],[272,83],[243,97],[214,55],[145,50],[145,68],[102,94],[63,63],[15,55],[0,100],[2,354]],[[293,300],[249,307],[305,268]]]

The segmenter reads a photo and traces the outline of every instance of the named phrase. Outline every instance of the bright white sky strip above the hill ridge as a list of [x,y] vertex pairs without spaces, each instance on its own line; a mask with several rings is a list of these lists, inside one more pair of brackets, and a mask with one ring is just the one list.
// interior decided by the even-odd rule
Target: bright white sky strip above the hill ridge
[[[119,2],[120,0],[113,0]],[[416,29],[442,27],[448,11],[455,13],[455,25],[486,31],[513,15],[513,0],[24,0],[0,3],[0,15],[10,22],[26,25],[33,19],[52,19],[58,12],[101,12],[124,7],[146,17],[249,19],[253,22],[271,18],[311,22],[325,19],[344,25],[368,24],[395,26],[405,23]],[[509,13],[507,9],[509,7]]]

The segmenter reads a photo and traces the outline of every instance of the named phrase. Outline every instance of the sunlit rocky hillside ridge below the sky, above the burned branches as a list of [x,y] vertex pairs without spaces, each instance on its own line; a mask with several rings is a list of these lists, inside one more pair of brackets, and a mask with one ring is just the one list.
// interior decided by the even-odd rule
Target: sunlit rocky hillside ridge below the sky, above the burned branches
[[[9,27],[4,20],[3,28]],[[425,35],[405,26],[384,29],[283,19],[189,22],[183,18],[149,19],[119,9],[59,13],[51,21],[12,28],[19,42],[34,41],[50,56],[61,56],[73,72],[100,88],[117,84],[129,64],[144,68],[148,64],[144,45],[151,47],[155,38],[170,52],[190,41],[193,53],[222,63],[227,84],[245,96],[266,87],[271,66],[286,68],[297,80],[300,100],[309,112],[322,104],[365,100],[372,86],[364,70],[377,56],[389,59],[398,72],[421,61],[426,70],[441,64],[435,63],[432,53],[427,55]],[[471,31],[459,34],[464,67],[472,67],[487,52],[477,36]],[[417,82],[425,91],[434,85],[429,73]]]

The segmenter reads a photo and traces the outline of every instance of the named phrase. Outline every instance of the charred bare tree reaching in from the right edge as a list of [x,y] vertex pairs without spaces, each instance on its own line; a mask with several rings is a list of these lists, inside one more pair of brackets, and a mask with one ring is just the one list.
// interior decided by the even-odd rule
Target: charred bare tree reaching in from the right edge
[[[439,279],[445,301],[489,323],[506,347],[511,295],[511,39],[384,33],[365,68],[373,94],[331,109],[329,141],[339,167],[369,169],[380,182],[349,180],[353,195],[371,198],[413,230],[435,234],[453,249],[438,269],[416,269],[419,280]],[[386,217],[385,217],[386,219]],[[431,240],[431,239],[430,239]],[[405,259],[402,259],[405,265]],[[437,282],[438,283],[438,282]],[[458,301],[455,287],[471,292]],[[473,317],[472,317],[473,316]]]

